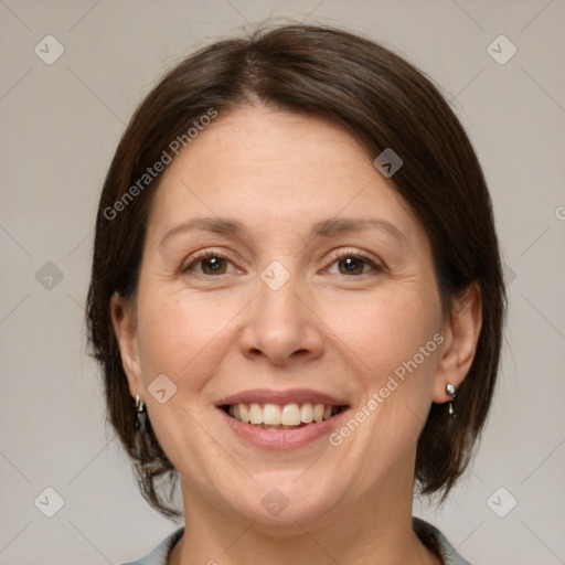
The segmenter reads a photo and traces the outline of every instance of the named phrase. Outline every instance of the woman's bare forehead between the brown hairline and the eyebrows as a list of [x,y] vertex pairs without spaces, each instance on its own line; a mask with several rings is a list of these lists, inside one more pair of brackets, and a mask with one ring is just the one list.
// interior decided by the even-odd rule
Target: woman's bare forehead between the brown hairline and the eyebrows
[[237,108],[220,114],[168,166],[149,223],[162,233],[195,217],[236,216],[264,231],[299,232],[340,214],[419,230],[344,129],[312,116]]

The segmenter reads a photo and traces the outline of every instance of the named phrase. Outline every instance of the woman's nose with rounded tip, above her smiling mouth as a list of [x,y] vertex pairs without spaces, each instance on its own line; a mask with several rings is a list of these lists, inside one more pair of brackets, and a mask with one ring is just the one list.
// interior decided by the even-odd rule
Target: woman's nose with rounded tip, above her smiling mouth
[[322,355],[323,323],[315,313],[310,294],[297,279],[292,274],[277,290],[258,279],[258,296],[245,311],[239,334],[241,351],[247,359],[290,367]]

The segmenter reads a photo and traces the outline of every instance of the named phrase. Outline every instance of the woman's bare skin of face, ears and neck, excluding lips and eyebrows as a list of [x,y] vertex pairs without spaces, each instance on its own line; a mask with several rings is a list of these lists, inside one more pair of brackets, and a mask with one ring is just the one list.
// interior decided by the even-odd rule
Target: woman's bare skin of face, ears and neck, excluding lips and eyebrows
[[[186,531],[169,563],[439,563],[412,530],[416,444],[430,403],[449,401],[446,384],[470,367],[480,300],[471,289],[444,315],[428,238],[393,180],[341,128],[264,107],[221,114],[168,166],[137,297],[115,295],[111,311],[131,395],[181,477]],[[335,216],[383,220],[403,236],[310,235]],[[198,217],[246,233],[160,243]],[[203,250],[226,257],[220,274],[194,263]],[[359,252],[379,267],[348,271]],[[260,278],[273,260],[289,274],[278,290]],[[443,343],[338,447],[326,436],[262,449],[216,407],[252,388],[312,388],[352,416],[436,334]],[[148,393],[160,374],[177,386],[164,404]],[[288,500],[278,516],[262,504],[273,488]]]

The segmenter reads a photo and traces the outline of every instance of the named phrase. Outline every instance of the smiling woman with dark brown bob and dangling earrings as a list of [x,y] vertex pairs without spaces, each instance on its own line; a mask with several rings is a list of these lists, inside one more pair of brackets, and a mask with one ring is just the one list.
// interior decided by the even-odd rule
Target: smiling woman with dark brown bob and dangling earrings
[[503,307],[480,166],[411,64],[306,25],[183,61],[118,146],[88,296],[143,495],[179,515],[180,479],[136,563],[468,563],[413,493],[469,461]]

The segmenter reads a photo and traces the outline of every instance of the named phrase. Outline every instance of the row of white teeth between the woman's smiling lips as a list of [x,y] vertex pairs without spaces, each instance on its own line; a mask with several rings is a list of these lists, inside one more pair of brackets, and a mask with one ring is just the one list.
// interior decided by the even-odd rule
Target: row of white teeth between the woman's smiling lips
[[232,418],[263,429],[298,429],[330,419],[347,409],[347,406],[309,402],[285,405],[237,403],[220,407]]

